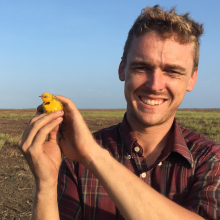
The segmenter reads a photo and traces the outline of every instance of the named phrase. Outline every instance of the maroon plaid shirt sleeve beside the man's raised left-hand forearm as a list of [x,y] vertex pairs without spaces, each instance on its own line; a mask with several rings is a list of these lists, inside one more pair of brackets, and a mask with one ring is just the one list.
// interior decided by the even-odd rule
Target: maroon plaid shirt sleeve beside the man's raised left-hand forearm
[[64,158],[58,177],[58,207],[60,220],[83,219],[82,206],[75,175],[76,163]]

